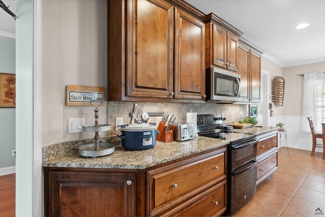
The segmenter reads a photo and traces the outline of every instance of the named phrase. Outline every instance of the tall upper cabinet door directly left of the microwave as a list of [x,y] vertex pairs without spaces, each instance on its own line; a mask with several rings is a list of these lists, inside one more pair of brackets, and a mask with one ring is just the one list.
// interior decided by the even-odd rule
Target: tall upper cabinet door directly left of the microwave
[[205,98],[205,23],[175,9],[175,99]]

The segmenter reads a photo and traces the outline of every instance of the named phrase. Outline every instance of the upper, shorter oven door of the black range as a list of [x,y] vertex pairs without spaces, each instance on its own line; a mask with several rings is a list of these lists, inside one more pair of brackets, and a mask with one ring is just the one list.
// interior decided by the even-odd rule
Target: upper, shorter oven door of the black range
[[256,144],[258,139],[252,138],[239,143],[231,144],[231,168],[236,169],[241,165],[256,159]]

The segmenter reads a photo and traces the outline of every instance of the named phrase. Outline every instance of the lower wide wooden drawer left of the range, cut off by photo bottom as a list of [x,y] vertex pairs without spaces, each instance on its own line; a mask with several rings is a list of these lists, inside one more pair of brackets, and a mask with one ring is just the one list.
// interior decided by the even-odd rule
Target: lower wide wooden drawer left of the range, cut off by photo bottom
[[226,211],[226,180],[198,195],[188,204],[177,207],[164,216],[220,216]]

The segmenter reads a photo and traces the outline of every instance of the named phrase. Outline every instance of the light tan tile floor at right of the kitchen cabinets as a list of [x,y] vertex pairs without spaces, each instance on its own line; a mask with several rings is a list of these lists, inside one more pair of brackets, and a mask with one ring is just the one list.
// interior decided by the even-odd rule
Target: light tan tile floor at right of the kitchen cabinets
[[325,160],[320,152],[314,156],[308,150],[289,148],[289,152],[290,156],[281,147],[278,169],[233,216],[325,217]]

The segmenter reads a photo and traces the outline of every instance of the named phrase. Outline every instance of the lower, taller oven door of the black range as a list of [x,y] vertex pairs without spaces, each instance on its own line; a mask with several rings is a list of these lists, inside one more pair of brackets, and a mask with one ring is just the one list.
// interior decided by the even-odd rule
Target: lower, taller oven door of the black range
[[253,160],[231,172],[230,214],[233,214],[256,192],[256,164]]

